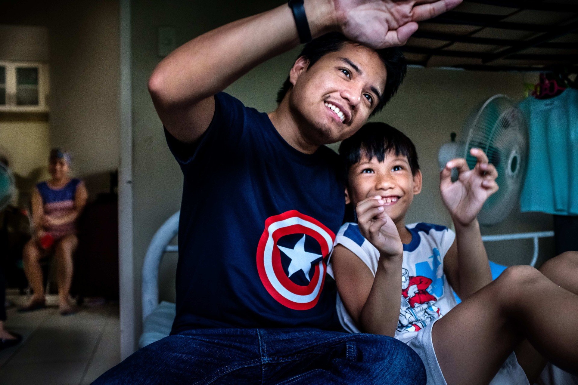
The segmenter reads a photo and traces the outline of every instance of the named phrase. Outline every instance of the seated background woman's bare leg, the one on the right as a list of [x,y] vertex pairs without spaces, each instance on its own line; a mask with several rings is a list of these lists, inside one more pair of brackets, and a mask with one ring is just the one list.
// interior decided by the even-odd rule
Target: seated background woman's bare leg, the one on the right
[[78,238],[71,234],[56,245],[55,257],[58,263],[58,308],[62,314],[72,312],[68,302],[72,285],[72,255],[78,245]]

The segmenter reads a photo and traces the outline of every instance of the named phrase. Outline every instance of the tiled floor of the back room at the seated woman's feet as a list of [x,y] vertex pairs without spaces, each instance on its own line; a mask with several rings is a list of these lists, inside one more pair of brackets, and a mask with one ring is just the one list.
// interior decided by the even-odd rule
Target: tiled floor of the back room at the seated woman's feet
[[[22,303],[24,297],[8,296]],[[81,308],[61,316],[49,298],[49,307],[30,313],[8,310],[5,325],[24,337],[0,350],[2,385],[84,385],[120,362],[118,304]]]

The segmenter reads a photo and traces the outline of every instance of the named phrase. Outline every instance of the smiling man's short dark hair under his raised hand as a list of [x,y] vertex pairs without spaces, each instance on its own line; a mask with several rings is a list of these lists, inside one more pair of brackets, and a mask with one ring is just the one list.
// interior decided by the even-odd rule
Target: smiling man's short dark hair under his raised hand
[[[339,32],[325,33],[325,35],[313,39],[309,43],[305,44],[299,57],[303,56],[309,60],[309,66],[307,67],[307,69],[309,69],[324,55],[339,51],[345,43],[359,44],[351,42],[351,40],[347,39]],[[376,52],[383,62],[383,65],[386,67],[387,79],[386,88],[383,91],[381,100],[379,100],[370,116],[379,113],[379,111],[383,109],[383,106],[385,106],[386,103],[390,101],[391,97],[395,95],[405,77],[407,69],[406,59],[403,57],[399,48],[384,48],[382,50],[376,50]],[[281,103],[281,100],[283,100],[287,91],[291,88],[291,85],[289,77],[287,77],[287,80],[285,80],[285,83],[283,83],[283,86],[281,86],[281,89],[277,92],[277,103]]]

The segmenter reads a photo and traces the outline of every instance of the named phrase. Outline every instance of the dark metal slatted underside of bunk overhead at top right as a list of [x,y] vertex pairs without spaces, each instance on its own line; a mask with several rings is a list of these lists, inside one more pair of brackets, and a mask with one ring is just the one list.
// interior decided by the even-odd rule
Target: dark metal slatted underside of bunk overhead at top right
[[578,1],[465,0],[421,23],[402,50],[418,66],[578,72]]

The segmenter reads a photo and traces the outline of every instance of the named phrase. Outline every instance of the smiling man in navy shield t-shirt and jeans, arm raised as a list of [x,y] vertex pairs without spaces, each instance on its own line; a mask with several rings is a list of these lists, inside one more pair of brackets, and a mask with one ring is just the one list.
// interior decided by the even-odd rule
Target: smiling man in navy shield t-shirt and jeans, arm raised
[[[171,336],[96,383],[425,383],[404,344],[336,331],[325,273],[344,186],[324,145],[395,94],[405,59],[391,47],[460,2],[291,1],[205,33],[157,66],[149,90],[184,175],[177,314]],[[221,92],[311,36],[272,113]]]

